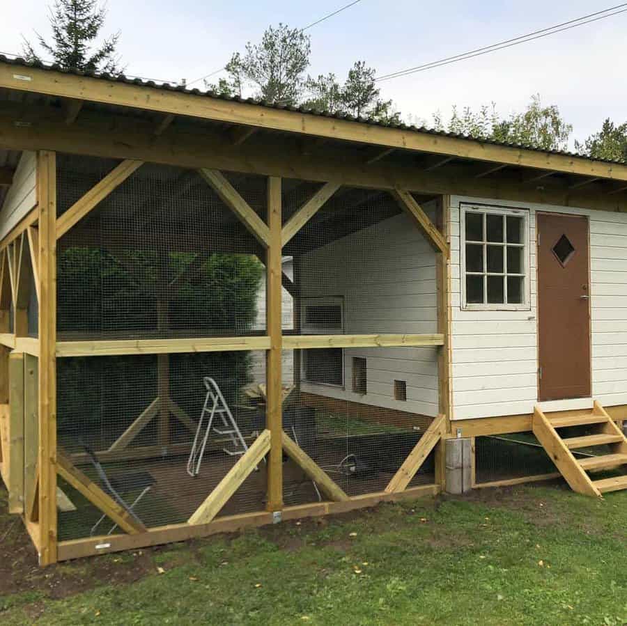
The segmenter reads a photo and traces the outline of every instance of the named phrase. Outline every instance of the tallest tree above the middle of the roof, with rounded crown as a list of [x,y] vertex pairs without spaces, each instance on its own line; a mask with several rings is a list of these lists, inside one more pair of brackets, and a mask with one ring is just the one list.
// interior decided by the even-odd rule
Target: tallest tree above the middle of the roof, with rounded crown
[[245,88],[256,88],[256,97],[268,102],[296,104],[309,67],[309,36],[285,24],[269,26],[261,43],[248,42],[245,54],[236,52],[226,64],[228,79],[209,85],[225,95],[244,95]]

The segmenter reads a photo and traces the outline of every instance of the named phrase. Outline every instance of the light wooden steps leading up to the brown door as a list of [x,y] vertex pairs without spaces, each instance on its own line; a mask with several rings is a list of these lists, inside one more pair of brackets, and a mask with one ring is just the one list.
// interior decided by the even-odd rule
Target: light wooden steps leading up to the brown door
[[[627,468],[627,438],[599,402],[592,409],[545,415],[536,407],[533,431],[571,489],[580,494],[602,497],[610,491],[627,490],[627,474],[592,480],[589,471]],[[562,437],[562,428],[585,426],[586,435]],[[607,454],[575,458],[571,450],[609,446]]]

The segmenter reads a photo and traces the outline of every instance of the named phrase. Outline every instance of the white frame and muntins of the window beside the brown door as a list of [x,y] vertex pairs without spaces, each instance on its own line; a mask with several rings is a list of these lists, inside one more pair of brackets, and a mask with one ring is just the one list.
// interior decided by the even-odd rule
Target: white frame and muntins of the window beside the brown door
[[[529,263],[529,224],[530,224],[530,211],[526,208],[518,207],[504,207],[499,205],[485,205],[479,203],[460,203],[459,205],[459,240],[460,240],[460,308],[465,311],[530,311],[531,310],[531,267]],[[503,294],[504,299],[507,297],[507,276],[522,276],[522,302],[507,304],[506,302],[467,302],[466,295],[466,214],[481,214],[481,215],[501,215],[504,217],[521,217],[522,218],[522,242],[520,244],[508,244],[506,234],[506,220],[504,220],[505,228],[503,233],[503,242],[488,242],[487,233],[483,232],[483,241],[474,242],[470,240],[469,243],[477,243],[483,246],[483,271],[482,272],[470,272],[471,275],[483,276],[483,298],[487,300],[487,277],[488,276],[503,276]],[[517,247],[522,249],[522,273],[509,274],[506,272],[506,261],[504,262],[503,272],[488,272],[487,267],[487,248],[488,245],[502,245],[506,247]],[[504,259],[506,258],[506,251],[504,252]]]

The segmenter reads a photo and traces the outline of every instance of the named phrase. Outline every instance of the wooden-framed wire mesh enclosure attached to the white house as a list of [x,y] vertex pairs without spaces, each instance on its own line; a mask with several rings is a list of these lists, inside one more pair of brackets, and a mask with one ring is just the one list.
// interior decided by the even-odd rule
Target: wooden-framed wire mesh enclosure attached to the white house
[[56,415],[32,414],[16,504],[43,562],[437,491],[437,253],[415,197],[43,156],[48,230],[3,255],[27,285],[3,274],[6,331],[41,352],[22,384]]

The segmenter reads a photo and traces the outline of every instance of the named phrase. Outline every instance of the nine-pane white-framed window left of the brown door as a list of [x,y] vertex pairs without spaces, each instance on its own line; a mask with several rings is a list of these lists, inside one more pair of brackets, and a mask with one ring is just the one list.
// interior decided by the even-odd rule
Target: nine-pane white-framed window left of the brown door
[[462,307],[529,309],[529,211],[460,204]]

